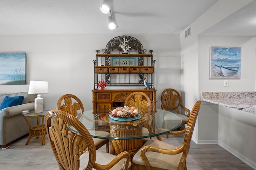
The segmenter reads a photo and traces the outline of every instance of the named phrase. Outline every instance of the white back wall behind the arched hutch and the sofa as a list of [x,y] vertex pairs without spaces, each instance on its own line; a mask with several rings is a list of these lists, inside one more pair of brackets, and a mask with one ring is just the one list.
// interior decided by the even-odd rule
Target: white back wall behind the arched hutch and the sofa
[[[127,34],[124,34],[127,35]],[[27,85],[1,85],[0,93],[26,92],[30,80],[46,80],[49,94],[42,94],[44,109],[55,109],[63,94],[74,94],[86,110],[92,109],[96,49],[105,49],[115,34],[0,36],[0,52],[26,52]],[[144,49],[153,49],[157,107],[166,88],[180,89],[179,35],[138,34]],[[146,53],[148,53],[148,51]],[[139,87],[144,89],[143,86]],[[108,89],[108,87],[106,88]]]

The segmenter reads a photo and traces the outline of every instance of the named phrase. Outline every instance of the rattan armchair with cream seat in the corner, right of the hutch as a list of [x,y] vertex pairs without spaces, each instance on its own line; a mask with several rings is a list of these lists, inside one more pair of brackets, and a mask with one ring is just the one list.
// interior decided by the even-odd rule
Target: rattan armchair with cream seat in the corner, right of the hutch
[[[182,119],[182,124],[187,124],[188,123],[188,118],[190,116],[190,110],[184,107],[181,104],[181,97],[180,94],[177,90],[174,90],[172,88],[168,88],[162,92],[161,96],[161,108],[163,110],[169,110],[169,111],[174,111],[176,115],[178,115]],[[179,109],[183,109],[186,113],[186,115],[183,115],[180,113]],[[168,127],[169,120],[171,120],[170,116],[168,114],[164,115],[164,123],[165,127]],[[165,135],[165,138],[168,138],[168,134],[181,134],[184,129],[184,127],[180,126],[177,131],[172,131],[169,132]]]

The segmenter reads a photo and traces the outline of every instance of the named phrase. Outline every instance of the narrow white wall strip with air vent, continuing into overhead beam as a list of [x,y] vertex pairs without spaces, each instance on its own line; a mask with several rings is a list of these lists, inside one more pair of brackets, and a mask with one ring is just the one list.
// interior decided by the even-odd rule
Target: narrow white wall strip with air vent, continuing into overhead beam
[[[186,96],[182,96],[185,100],[186,107],[191,109],[196,100],[200,100],[199,90],[199,69],[198,69],[198,35],[210,28],[214,24],[233,14],[252,0],[218,0],[211,8],[209,8],[202,16],[196,19],[191,25],[191,35],[184,38],[184,31],[180,34],[180,53],[183,74],[181,77],[182,90]],[[226,8],[228,7],[228,8]],[[216,13],[217,12],[217,13]],[[201,84],[200,84],[201,85]],[[200,109],[198,121],[193,133],[193,141],[198,142],[198,122],[204,114]]]

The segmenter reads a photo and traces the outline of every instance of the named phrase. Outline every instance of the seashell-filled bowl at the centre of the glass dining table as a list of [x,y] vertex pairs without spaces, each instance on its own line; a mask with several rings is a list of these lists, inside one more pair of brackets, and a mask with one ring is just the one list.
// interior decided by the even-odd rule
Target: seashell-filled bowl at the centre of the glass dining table
[[[109,109],[110,110],[110,109]],[[116,107],[116,109],[110,110],[110,115],[113,117],[136,117],[139,112],[136,107],[132,106],[124,106],[124,107]]]

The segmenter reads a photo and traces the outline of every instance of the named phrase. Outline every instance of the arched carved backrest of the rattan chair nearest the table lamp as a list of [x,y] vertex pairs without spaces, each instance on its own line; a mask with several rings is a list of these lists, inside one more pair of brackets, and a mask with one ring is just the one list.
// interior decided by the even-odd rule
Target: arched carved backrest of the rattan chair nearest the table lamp
[[61,96],[57,102],[56,109],[65,111],[74,116],[77,116],[78,110],[81,110],[81,113],[84,112],[84,106],[81,100],[73,94]]

